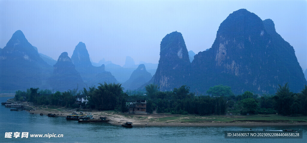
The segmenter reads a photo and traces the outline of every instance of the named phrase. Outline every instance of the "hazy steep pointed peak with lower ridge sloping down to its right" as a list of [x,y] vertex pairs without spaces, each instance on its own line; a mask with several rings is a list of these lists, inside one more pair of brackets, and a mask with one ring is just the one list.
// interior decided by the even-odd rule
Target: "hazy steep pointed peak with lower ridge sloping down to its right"
[[115,77],[108,71],[105,71],[105,65],[95,67],[91,64],[89,54],[83,42],[79,42],[72,54],[72,63],[80,73],[84,83],[90,87],[98,83],[117,83]]

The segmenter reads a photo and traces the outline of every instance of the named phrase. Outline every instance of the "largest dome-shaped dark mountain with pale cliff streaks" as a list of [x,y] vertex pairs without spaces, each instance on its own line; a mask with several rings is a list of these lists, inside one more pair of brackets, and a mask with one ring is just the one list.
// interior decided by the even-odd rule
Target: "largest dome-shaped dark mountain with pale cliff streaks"
[[212,47],[194,57],[193,90],[205,92],[210,86],[223,84],[235,93],[274,93],[278,84],[286,82],[292,91],[301,90],[306,81],[301,78],[293,47],[283,39],[279,44],[281,37],[274,36],[275,28],[264,23],[246,9],[231,13],[220,24]]

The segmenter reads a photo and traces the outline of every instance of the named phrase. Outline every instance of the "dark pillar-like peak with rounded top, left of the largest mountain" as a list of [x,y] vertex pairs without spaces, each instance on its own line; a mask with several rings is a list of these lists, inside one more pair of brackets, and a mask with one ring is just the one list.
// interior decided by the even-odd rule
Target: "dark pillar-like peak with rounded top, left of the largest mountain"
[[173,90],[187,84],[191,63],[185,41],[180,32],[167,34],[160,44],[160,59],[157,71],[150,83],[160,90]]

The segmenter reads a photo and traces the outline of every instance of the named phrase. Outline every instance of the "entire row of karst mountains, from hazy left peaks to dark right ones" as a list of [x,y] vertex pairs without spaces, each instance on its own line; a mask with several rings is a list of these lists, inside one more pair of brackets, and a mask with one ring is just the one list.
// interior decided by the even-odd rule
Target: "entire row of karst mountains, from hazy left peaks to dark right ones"
[[93,63],[83,42],[71,58],[64,52],[55,62],[38,53],[18,30],[0,49],[0,92],[30,87],[65,91],[120,82],[126,90],[144,90],[153,83],[162,91],[187,85],[192,92],[204,94],[209,87],[223,84],[235,94],[274,94],[278,85],[288,83],[292,92],[307,85],[307,70],[304,76],[293,47],[275,31],[274,22],[246,9],[229,14],[212,47],[204,49],[188,52],[184,36],[175,31],[162,39],[158,64],[135,64],[129,56],[123,67],[105,59]]

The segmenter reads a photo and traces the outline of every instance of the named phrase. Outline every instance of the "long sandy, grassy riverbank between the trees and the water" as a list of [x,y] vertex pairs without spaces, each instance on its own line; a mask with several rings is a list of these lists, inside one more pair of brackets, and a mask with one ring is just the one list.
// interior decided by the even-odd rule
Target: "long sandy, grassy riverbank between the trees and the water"
[[[66,117],[72,112],[78,112],[77,109],[69,109],[65,107],[60,108],[48,108],[43,106],[32,106],[31,103],[22,102],[30,113],[47,115],[49,113],[56,114],[59,117]],[[35,109],[35,110],[34,110]],[[111,119],[108,123],[113,125],[121,125],[125,122],[132,122],[134,127],[208,127],[208,126],[301,126],[307,125],[307,122],[249,122],[249,121],[232,121],[232,122],[219,122],[219,121],[196,121],[196,122],[181,122],[181,115],[172,114],[128,114],[128,113],[117,113],[112,111],[96,111],[96,110],[80,110],[86,113],[92,113],[95,119],[99,117],[107,117]],[[177,118],[178,117],[178,118]],[[192,118],[193,116],[191,116]],[[174,119],[175,118],[175,119]],[[184,117],[189,118],[189,117]],[[206,118],[206,117],[203,117]],[[229,118],[229,117],[225,117]],[[179,120],[178,120],[179,119]]]

